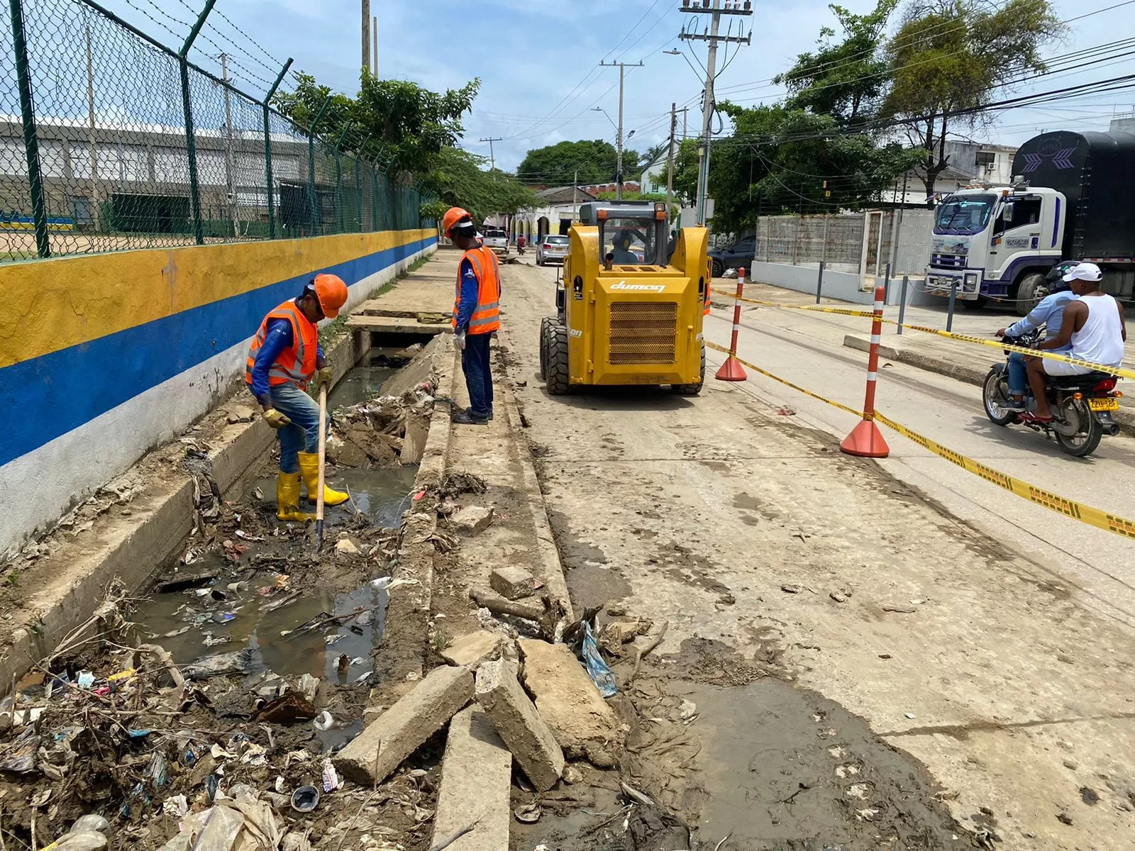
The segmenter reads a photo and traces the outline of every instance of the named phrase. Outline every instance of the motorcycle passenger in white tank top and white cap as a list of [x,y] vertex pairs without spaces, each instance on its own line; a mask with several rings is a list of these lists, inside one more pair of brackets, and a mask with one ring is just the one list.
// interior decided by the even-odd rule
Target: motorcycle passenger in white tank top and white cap
[[[1067,275],[1073,292],[1079,298],[1065,307],[1060,334],[1041,343],[1037,348],[1059,352],[1069,343],[1073,357],[1107,366],[1118,366],[1124,359],[1124,343],[1127,342],[1127,326],[1124,321],[1124,305],[1100,289],[1103,272],[1095,263],[1081,263]],[[1081,366],[1063,361],[1028,359],[1028,384],[1036,397],[1036,412],[1023,415],[1024,421],[1052,422],[1052,411],[1044,393],[1046,376],[1082,376],[1091,372],[1090,366]]]

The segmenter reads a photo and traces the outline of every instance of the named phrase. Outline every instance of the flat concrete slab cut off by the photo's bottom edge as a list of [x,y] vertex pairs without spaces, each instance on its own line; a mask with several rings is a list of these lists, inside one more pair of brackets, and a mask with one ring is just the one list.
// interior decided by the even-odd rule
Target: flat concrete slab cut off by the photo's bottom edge
[[459,831],[473,829],[448,851],[508,851],[512,753],[485,710],[471,706],[453,716],[442,762],[431,848]]

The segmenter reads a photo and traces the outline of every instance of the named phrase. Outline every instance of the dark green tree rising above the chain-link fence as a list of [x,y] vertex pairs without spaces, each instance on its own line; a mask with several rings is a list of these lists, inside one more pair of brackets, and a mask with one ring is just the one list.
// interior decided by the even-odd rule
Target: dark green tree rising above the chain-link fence
[[473,79],[461,89],[438,94],[415,83],[376,79],[363,71],[359,96],[348,98],[333,93],[310,74],[300,73],[295,90],[278,93],[275,103],[280,112],[306,129],[330,95],[317,127],[320,138],[334,144],[350,123],[345,143],[348,150],[352,143],[358,144],[370,134],[372,143],[381,146],[389,171],[422,175],[434,166],[443,149],[455,146],[464,135],[461,118],[472,108],[480,84],[480,79]]

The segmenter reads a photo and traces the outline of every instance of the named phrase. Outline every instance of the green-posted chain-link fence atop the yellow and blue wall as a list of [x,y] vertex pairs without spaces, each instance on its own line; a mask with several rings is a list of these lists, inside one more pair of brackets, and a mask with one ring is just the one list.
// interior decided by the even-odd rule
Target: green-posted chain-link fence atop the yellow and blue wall
[[90,0],[10,6],[0,261],[429,226],[369,137],[296,127],[275,86],[258,100]]

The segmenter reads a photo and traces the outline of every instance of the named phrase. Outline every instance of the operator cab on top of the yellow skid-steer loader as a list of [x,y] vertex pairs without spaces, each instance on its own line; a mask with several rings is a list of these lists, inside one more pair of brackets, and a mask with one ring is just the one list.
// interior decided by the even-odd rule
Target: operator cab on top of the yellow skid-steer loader
[[609,254],[615,275],[641,267],[666,266],[666,204],[642,201],[599,201],[579,209],[583,225],[599,229],[599,264]]

